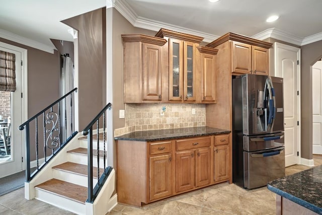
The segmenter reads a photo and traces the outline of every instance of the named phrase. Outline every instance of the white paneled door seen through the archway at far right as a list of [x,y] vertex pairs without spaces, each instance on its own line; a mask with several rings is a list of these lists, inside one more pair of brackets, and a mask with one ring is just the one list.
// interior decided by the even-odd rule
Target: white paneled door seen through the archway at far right
[[312,66],[313,154],[322,154],[322,61]]

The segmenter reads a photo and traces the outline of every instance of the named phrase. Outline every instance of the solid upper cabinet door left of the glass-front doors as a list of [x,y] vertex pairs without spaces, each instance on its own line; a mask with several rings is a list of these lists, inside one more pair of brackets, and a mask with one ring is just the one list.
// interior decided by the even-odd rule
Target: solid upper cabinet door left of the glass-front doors
[[143,100],[162,99],[162,47],[143,44]]

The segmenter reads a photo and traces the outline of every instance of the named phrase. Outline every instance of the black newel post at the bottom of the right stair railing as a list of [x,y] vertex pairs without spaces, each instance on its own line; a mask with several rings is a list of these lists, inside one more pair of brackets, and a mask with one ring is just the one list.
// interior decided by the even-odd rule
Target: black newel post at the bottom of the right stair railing
[[93,128],[89,129],[87,136],[88,154],[88,201],[93,201]]

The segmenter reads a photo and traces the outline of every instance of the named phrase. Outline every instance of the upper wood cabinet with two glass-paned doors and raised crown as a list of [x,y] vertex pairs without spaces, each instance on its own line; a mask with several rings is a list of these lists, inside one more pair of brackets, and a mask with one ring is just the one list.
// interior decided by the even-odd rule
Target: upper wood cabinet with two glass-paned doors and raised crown
[[196,46],[203,40],[189,34],[160,29],[156,37],[168,40],[164,46],[168,53],[169,101],[195,102],[200,83],[196,76]]

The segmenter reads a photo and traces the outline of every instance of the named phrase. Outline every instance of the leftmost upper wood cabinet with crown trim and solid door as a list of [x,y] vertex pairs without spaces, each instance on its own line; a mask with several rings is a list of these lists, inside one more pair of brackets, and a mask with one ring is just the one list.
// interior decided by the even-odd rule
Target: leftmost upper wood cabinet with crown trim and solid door
[[124,103],[164,102],[163,49],[165,39],[122,35],[124,48]]

